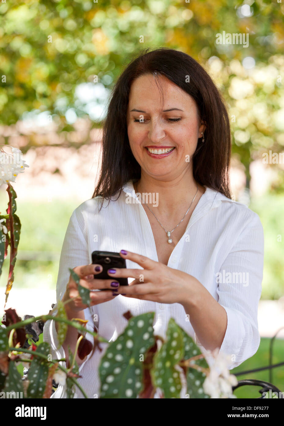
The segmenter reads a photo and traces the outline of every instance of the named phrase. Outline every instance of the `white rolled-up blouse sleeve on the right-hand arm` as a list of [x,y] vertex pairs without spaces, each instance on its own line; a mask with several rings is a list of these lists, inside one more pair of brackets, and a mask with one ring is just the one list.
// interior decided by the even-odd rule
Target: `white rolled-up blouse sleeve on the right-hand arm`
[[[250,210],[251,212],[251,210]],[[220,351],[230,355],[229,369],[252,357],[260,343],[258,302],[264,262],[264,233],[258,215],[251,212],[219,271],[217,294],[227,312],[227,329]]]

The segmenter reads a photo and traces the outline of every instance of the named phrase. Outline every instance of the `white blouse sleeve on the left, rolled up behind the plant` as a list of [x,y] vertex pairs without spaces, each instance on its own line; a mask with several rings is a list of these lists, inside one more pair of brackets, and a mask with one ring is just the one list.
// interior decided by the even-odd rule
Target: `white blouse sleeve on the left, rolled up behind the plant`
[[[84,236],[84,234],[84,218],[82,213],[80,212],[79,206],[73,211],[71,215],[62,245],[56,286],[57,300],[51,312],[51,315],[53,316],[57,314],[58,301],[62,300],[62,297],[65,294],[66,286],[70,276],[69,268],[75,268],[75,266],[81,265],[88,265],[90,263],[88,239]],[[84,310],[85,319],[88,320],[88,323],[86,324],[88,330],[94,331],[94,314],[96,313],[96,306],[91,307],[91,312],[88,308]],[[92,340],[92,337],[89,333],[86,334],[86,338]],[[43,328],[43,341],[48,342],[50,344],[52,359],[65,358],[65,351],[62,345],[60,345],[58,342],[58,336],[54,320],[48,320],[45,322]],[[91,354],[88,355],[88,358],[90,356]],[[66,366],[65,362],[61,362],[60,364],[64,367]],[[80,368],[82,368],[82,365],[80,366]]]

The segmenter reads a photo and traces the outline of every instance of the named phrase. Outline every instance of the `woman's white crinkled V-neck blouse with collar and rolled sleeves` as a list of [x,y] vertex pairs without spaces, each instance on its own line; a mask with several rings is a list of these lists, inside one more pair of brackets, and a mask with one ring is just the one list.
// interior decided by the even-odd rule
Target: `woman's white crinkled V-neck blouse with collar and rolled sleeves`
[[[196,277],[226,310],[227,329],[220,351],[231,356],[231,369],[252,357],[260,343],[257,311],[263,274],[263,227],[258,215],[246,205],[228,199],[209,187],[205,188],[185,234],[170,255],[168,266]],[[119,252],[124,249],[158,262],[151,225],[135,195],[133,181],[123,186],[117,200],[117,195],[112,197],[108,207],[108,200],[105,200],[99,212],[100,198],[84,201],[71,215],[60,256],[57,301],[65,293],[70,275],[68,268],[90,264],[94,250]],[[141,268],[128,259],[126,266]],[[128,280],[132,281],[131,278]],[[99,335],[111,342],[116,340],[128,323],[123,317],[126,311],[130,310],[133,316],[154,311],[154,334],[165,337],[168,321],[173,318],[204,350],[185,309],[179,303],[160,304],[119,296],[92,306],[94,317],[88,308],[85,309],[88,329],[94,331],[96,325]],[[56,313],[57,304],[52,311],[52,314]],[[92,341],[91,335],[87,334],[86,337]],[[45,323],[43,340],[50,343],[53,359],[65,357],[53,320]],[[98,366],[107,344],[101,346],[102,352],[96,350],[93,356],[89,354],[80,366],[82,378],[78,382],[89,398],[99,396]],[[211,358],[206,359],[210,365]],[[64,362],[61,364],[65,366]],[[157,389],[154,397],[159,398],[160,395]],[[58,386],[51,397],[65,398],[65,386]],[[78,388],[75,397],[83,397]]]

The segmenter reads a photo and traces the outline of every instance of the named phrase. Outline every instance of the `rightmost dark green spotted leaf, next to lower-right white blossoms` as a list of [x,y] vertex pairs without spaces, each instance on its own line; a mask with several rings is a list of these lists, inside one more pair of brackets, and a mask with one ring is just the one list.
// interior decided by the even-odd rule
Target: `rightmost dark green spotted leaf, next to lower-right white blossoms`
[[[193,339],[187,335],[187,333],[181,328],[182,336],[183,336],[183,344],[185,348],[184,360],[189,360],[190,358],[196,357],[200,355],[202,352],[199,347],[194,343]],[[192,364],[197,367],[209,368],[207,361],[205,358],[201,358],[200,360],[193,360]],[[198,370],[198,368],[190,368],[187,367],[186,370],[186,378],[187,378],[187,394],[190,398],[210,398],[209,395],[204,393],[203,383],[206,379],[206,374],[202,372],[202,370]]]

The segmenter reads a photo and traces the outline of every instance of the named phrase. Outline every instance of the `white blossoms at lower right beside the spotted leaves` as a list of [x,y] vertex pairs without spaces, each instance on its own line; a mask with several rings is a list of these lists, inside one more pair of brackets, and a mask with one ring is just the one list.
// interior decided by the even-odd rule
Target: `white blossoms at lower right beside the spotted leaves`
[[238,384],[236,376],[230,374],[228,366],[231,363],[230,355],[220,352],[219,349],[211,351],[214,363],[210,367],[210,373],[203,383],[204,392],[211,398],[236,398],[233,395],[232,386]]

